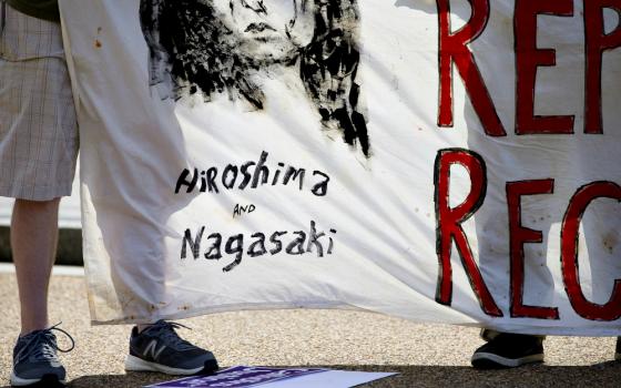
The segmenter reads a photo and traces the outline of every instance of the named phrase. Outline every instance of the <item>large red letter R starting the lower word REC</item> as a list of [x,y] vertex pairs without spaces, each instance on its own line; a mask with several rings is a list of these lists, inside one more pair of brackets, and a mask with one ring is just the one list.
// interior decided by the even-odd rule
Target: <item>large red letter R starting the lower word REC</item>
[[[470,176],[470,193],[459,206],[449,205],[450,167],[452,164],[462,165]],[[487,190],[486,167],[482,157],[471,151],[448,149],[438,151],[436,156],[434,183],[436,186],[436,252],[438,254],[438,288],[436,300],[442,305],[450,305],[452,296],[452,279],[450,267],[450,251],[452,241],[466,268],[466,274],[475,295],[479,299],[481,309],[487,314],[501,317],[502,312],[493,302],[481,273],[472,257],[468,238],[461,224],[482,205]]]

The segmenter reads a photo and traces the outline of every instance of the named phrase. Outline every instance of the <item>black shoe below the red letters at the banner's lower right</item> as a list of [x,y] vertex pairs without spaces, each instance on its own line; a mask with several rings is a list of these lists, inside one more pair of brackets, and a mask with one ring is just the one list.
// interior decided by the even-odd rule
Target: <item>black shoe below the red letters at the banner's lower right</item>
[[477,369],[515,368],[543,361],[543,338],[500,333],[478,348],[470,363]]

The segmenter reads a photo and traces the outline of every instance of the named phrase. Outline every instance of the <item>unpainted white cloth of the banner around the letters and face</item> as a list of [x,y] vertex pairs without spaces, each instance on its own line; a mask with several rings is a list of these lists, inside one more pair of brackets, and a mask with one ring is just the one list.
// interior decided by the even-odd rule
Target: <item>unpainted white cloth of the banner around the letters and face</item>
[[[288,0],[273,0],[285,2]],[[338,130],[319,124],[295,72],[259,75],[266,103],[251,110],[226,93],[162,100],[150,88],[149,49],[139,0],[61,0],[65,44],[79,96],[81,195],[92,320],[147,321],[251,308],[356,308],[418,321],[487,326],[521,333],[618,335],[619,319],[581,317],[569,303],[560,264],[560,223],[569,200],[593,181],[620,182],[619,90],[621,51],[604,54],[603,135],[583,133],[584,25],[582,2],[573,17],[539,17],[538,45],[557,50],[557,65],[539,68],[536,113],[576,115],[572,135],[513,131],[516,58],[513,1],[492,1],[483,33],[470,44],[507,136],[486,135],[454,71],[454,127],[439,129],[438,16],[429,0],[359,0],[357,80],[365,101],[371,155],[350,147]],[[267,3],[267,2],[266,2]],[[452,30],[470,14],[452,1]],[[607,12],[608,24],[615,16]],[[457,251],[452,249],[450,306],[438,304],[434,161],[439,150],[461,147],[482,156],[487,195],[464,223],[474,257],[502,317],[481,310]],[[226,165],[258,162],[274,177],[278,163],[305,169],[296,183],[175,194],[184,169],[220,174]],[[283,167],[283,171],[284,169]],[[312,193],[329,176],[327,194]],[[283,173],[284,174],[284,173]],[[451,170],[450,205],[470,191],[466,170]],[[542,231],[525,245],[523,304],[558,307],[560,319],[511,317],[506,183],[553,178],[551,194],[523,196],[521,223]],[[234,215],[236,205],[254,206]],[[588,299],[604,304],[621,278],[617,201],[598,200],[586,213],[579,239],[580,279]],[[283,251],[251,257],[255,233],[326,235],[301,255]],[[204,227],[197,258],[182,246],[186,231]],[[336,231],[336,233],[329,232]],[[222,235],[220,259],[205,254]],[[226,253],[243,234],[241,263]],[[328,237],[333,238],[327,254]],[[230,241],[231,252],[235,241]],[[304,251],[308,251],[308,242]],[[266,242],[266,249],[275,244]],[[256,248],[256,246],[255,246]],[[213,254],[214,251],[211,251]]]

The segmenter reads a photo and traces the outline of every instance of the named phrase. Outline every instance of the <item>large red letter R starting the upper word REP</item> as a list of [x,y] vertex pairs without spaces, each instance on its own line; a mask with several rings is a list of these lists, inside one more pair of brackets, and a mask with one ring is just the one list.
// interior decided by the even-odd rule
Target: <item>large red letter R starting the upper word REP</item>
[[489,0],[468,0],[472,8],[472,17],[459,31],[450,31],[449,0],[437,0],[439,18],[439,63],[440,63],[440,106],[438,126],[452,126],[452,63],[459,75],[475,111],[481,120],[485,132],[490,136],[505,136],[505,127],[489,92],[475,57],[467,44],[476,40],[485,30],[489,19]]

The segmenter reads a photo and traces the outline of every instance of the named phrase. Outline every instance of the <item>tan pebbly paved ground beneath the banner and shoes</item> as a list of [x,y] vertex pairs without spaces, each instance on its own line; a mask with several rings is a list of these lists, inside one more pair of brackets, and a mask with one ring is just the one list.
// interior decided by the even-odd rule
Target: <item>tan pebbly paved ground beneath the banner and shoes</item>
[[[81,277],[53,276],[52,323],[75,340],[63,355],[70,387],[141,387],[170,378],[125,374],[129,326],[91,327]],[[18,334],[14,275],[0,274],[0,387],[9,385]],[[190,340],[212,349],[221,366],[324,366],[398,371],[368,387],[619,387],[621,363],[611,361],[613,338],[553,337],[547,364],[515,370],[477,371],[471,351],[481,343],[474,328],[416,325],[375,314],[337,310],[227,313],[183,321]]]

